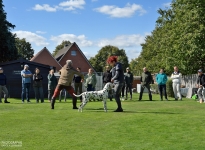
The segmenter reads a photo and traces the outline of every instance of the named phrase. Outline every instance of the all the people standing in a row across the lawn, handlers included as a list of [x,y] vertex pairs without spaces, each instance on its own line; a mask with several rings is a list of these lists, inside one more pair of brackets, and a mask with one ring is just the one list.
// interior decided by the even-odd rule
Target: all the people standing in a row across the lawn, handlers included
[[[107,63],[112,66],[112,69],[109,66],[106,66],[106,71],[103,74],[103,83],[104,85],[108,82],[112,82],[114,84],[113,91],[110,91],[110,101],[112,98],[115,98],[117,103],[117,109],[115,112],[123,112],[120,97],[122,92],[122,97],[124,97],[124,88],[126,90],[126,97],[128,97],[128,90],[130,92],[130,100],[132,100],[132,83],[133,83],[133,74],[130,72],[129,68],[126,68],[126,73],[123,71],[122,64],[118,62],[117,56],[110,56],[107,59]],[[35,69],[35,73],[32,74],[29,71],[29,66],[24,65],[24,69],[21,71],[22,77],[22,103],[24,103],[25,97],[26,101],[29,103],[29,92],[30,92],[30,84],[31,77],[33,77],[33,88],[35,92],[36,102],[39,100],[41,103],[44,102],[44,94],[43,94],[43,85],[42,80],[43,76],[40,73],[38,68]],[[73,95],[73,93],[82,93],[82,82],[85,81],[85,87],[87,91],[94,91],[97,83],[96,75],[93,73],[93,70],[90,68],[88,70],[88,74],[84,77],[81,73],[81,69],[77,67],[75,70],[72,66],[72,61],[67,60],[66,64],[59,71],[60,78],[57,78],[54,75],[54,70],[50,70],[47,76],[48,78],[48,100],[51,103],[51,109],[54,109],[56,97],[60,94],[60,91],[63,89],[67,91],[72,97],[73,109],[78,109],[77,98]],[[175,100],[182,100],[180,88],[181,88],[181,78],[182,74],[179,72],[178,67],[174,67],[174,72],[171,74],[172,79],[172,87],[174,91]],[[7,101],[8,90],[6,88],[6,76],[3,74],[3,68],[0,67],[0,93],[4,93],[4,102],[9,103]],[[72,82],[75,83],[75,89],[71,86]],[[148,90],[149,100],[152,101],[152,93],[150,90],[150,84],[153,84],[153,77],[151,73],[147,70],[146,67],[143,68],[143,73],[141,75],[141,89],[139,95],[139,101],[142,100],[143,91],[145,88]],[[167,75],[164,73],[164,69],[160,69],[159,73],[156,75],[156,82],[158,84],[158,89],[160,93],[160,99],[163,100],[163,93],[165,100],[168,101],[167,92],[166,92],[166,82]],[[198,96],[200,101],[204,101],[204,93],[205,93],[205,75],[202,70],[198,70]],[[113,94],[114,93],[114,94]],[[1,94],[0,94],[1,95]],[[82,101],[82,97],[80,97]],[[1,102],[1,97],[0,97]]]

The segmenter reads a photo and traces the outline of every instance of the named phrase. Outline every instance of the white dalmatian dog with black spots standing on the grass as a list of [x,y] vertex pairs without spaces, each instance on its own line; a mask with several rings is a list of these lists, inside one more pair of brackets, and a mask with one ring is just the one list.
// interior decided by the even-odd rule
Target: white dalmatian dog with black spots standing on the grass
[[107,112],[107,98],[108,98],[108,91],[112,90],[113,84],[108,82],[105,84],[104,88],[100,91],[89,91],[89,92],[83,92],[80,95],[75,95],[76,97],[82,96],[82,103],[78,109],[78,111],[83,112],[83,107],[87,104],[87,102],[91,99],[94,100],[101,100],[104,105],[104,111]]

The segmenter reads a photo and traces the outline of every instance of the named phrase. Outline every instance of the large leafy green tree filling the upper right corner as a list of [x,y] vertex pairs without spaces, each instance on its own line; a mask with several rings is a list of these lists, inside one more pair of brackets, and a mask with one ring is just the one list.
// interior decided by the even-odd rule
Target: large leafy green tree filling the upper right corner
[[165,68],[170,74],[177,65],[183,74],[205,69],[205,1],[173,0],[171,7],[158,10],[151,35],[142,45],[136,70],[146,66],[151,72]]

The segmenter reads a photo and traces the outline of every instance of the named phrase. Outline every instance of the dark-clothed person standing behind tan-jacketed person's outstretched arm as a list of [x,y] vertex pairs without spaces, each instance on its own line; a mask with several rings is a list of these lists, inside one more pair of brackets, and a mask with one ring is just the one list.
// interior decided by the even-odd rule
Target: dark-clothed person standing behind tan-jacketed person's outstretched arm
[[[76,70],[78,72],[81,72],[80,67],[77,67]],[[79,94],[82,93],[82,82],[81,82],[81,80],[82,80],[81,76],[79,76],[77,74],[74,75],[73,81],[74,81],[75,93],[76,94],[78,94],[78,91],[79,91]],[[82,96],[80,96],[80,101],[82,102]]]

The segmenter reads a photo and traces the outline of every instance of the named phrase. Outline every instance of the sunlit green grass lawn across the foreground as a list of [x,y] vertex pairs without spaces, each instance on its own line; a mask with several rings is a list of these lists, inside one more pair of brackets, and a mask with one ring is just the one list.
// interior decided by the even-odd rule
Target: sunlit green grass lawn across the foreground
[[[89,102],[83,113],[71,100],[50,109],[50,103],[0,104],[0,150],[204,150],[205,104],[192,99],[159,101],[144,94],[123,101],[124,112],[113,112],[115,101]],[[78,100],[78,106],[80,102]],[[21,147],[3,146],[21,141]]]

